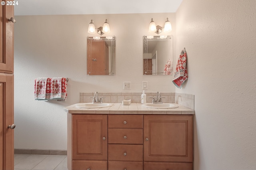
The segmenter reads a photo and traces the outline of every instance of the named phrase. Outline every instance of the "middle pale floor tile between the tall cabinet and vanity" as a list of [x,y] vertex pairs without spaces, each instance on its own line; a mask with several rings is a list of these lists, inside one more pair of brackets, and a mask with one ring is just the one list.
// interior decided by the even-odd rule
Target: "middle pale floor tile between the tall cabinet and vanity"
[[30,155],[18,164],[14,166],[15,169],[29,169],[31,170],[37,164],[42,162],[47,156],[37,156],[37,155]]

